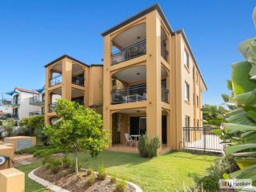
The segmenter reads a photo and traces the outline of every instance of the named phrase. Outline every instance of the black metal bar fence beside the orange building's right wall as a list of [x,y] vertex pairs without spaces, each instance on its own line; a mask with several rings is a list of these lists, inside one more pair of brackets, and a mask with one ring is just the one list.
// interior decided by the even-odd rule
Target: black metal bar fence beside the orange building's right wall
[[222,140],[212,127],[183,127],[183,148],[191,150],[223,150]]

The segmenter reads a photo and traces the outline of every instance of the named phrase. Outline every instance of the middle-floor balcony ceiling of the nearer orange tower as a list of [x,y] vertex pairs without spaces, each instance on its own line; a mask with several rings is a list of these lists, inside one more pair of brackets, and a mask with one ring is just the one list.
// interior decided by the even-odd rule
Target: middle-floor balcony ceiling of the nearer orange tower
[[[162,68],[161,74],[162,78],[166,78],[166,70],[164,68]],[[126,70],[120,70],[113,77],[127,83],[146,81],[146,66],[133,66]]]

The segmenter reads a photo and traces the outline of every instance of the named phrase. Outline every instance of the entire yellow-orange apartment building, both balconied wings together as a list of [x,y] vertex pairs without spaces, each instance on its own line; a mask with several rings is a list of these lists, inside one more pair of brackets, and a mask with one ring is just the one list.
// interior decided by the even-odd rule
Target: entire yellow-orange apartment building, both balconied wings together
[[86,107],[103,103],[110,147],[126,143],[128,133],[157,136],[160,154],[181,150],[182,142],[195,136],[182,127],[202,126],[202,92],[207,89],[184,31],[172,30],[155,4],[102,37],[103,66],[68,55],[45,66],[45,121],[57,118],[56,97]]

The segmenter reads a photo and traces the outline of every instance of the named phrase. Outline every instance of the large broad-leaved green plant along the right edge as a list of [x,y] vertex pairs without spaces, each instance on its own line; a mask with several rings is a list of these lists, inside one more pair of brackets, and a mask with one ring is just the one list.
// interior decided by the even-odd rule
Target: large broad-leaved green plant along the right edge
[[[254,9],[256,23],[256,8]],[[240,170],[230,178],[250,178],[256,182],[256,38],[242,42],[239,50],[244,62],[232,65],[228,88],[231,96],[222,95],[230,112],[222,124],[222,139],[227,143],[225,153],[231,154]]]

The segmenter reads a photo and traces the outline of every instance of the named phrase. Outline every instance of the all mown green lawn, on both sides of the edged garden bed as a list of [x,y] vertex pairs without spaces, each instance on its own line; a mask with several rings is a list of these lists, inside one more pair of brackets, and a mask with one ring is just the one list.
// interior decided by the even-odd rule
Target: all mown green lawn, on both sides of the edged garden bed
[[[194,186],[195,180],[208,174],[209,168],[217,157],[206,154],[190,154],[177,151],[158,158],[140,158],[138,154],[126,154],[104,151],[98,158],[92,159],[89,154],[79,154],[78,161],[82,167],[93,167],[103,164],[108,174],[117,174],[142,187],[143,191],[175,191],[181,190],[183,183]],[[41,166],[35,162],[27,166],[19,166],[26,174]],[[26,178],[26,192],[44,191],[43,187]]]

